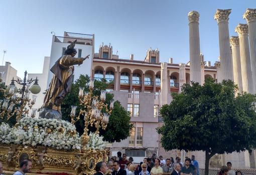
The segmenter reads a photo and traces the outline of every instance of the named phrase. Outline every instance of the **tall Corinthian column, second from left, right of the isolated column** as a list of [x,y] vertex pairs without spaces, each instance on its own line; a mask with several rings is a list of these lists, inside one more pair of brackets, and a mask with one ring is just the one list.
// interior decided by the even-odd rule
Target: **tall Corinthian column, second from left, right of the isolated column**
[[224,80],[233,80],[232,58],[230,53],[229,33],[228,33],[228,16],[231,9],[220,10],[214,15],[219,28],[219,53],[221,58],[221,74]]

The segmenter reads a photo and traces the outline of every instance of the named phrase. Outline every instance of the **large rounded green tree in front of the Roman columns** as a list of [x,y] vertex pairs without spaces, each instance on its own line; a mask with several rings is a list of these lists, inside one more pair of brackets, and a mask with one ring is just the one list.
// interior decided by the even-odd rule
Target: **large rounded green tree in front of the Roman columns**
[[229,81],[216,83],[206,79],[183,85],[180,94],[160,112],[164,125],[162,146],[166,150],[205,151],[205,174],[209,160],[218,153],[251,151],[256,145],[255,95],[237,94],[237,86]]

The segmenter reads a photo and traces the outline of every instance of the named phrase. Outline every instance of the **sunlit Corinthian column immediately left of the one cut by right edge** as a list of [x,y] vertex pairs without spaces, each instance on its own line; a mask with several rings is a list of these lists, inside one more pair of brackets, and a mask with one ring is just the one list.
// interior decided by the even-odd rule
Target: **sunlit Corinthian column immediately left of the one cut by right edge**
[[251,74],[251,65],[250,65],[248,25],[238,24],[235,28],[235,32],[237,32],[239,36],[242,88],[243,88],[243,91],[252,93],[253,86],[252,86],[252,74]]

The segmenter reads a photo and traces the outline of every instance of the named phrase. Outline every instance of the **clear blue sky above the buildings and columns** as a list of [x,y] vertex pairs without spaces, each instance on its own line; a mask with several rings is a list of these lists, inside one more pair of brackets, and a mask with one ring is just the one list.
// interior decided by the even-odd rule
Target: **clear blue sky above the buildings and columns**
[[45,56],[50,56],[53,31],[95,35],[95,52],[102,42],[111,43],[119,58],[144,60],[149,48],[159,49],[160,62],[189,61],[188,13],[198,11],[200,50],[213,65],[219,56],[218,26],[213,16],[217,9],[232,9],[229,35],[245,24],[247,8],[255,0],[8,0],[0,6],[0,64],[4,58],[18,70],[18,76],[42,73]]

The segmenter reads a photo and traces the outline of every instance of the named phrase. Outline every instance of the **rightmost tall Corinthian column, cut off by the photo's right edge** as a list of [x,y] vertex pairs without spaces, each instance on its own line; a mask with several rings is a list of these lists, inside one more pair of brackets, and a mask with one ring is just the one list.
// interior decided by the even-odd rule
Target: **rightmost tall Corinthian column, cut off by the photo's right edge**
[[256,9],[246,9],[243,19],[248,24],[253,93],[256,93]]

